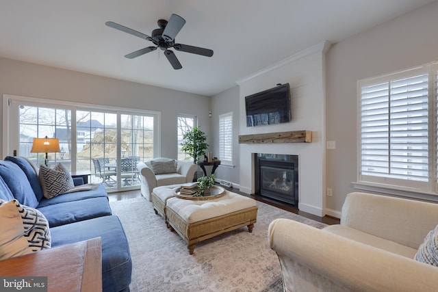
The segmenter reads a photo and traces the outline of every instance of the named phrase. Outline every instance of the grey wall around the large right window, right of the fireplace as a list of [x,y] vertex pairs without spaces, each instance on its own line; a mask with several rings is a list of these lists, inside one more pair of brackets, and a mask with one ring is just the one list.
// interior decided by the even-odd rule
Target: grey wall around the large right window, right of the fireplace
[[357,179],[357,81],[438,59],[438,2],[334,44],[326,54],[326,210],[341,211]]

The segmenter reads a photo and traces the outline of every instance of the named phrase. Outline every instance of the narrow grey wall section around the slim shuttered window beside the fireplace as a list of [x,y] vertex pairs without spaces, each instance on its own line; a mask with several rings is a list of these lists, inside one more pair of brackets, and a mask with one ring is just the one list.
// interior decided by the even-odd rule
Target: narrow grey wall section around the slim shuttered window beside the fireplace
[[215,133],[219,129],[219,115],[233,113],[233,165],[219,165],[216,170],[216,179],[229,181],[233,187],[239,187],[239,87],[225,90],[216,96],[211,97],[211,120],[210,133],[214,136],[214,142],[210,149],[214,156],[219,153],[219,139]]

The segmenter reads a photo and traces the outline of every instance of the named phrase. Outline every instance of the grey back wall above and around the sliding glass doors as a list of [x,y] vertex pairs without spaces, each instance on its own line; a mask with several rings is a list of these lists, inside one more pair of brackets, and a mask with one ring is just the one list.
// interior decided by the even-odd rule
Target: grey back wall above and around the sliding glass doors
[[[145,72],[145,74],[153,74]],[[177,158],[177,114],[198,116],[209,137],[209,96],[142,85],[81,72],[0,58],[0,95],[12,94],[58,101],[77,101],[162,112],[161,156]],[[1,105],[3,107],[3,105]],[[3,108],[0,109],[0,113]],[[0,119],[3,139],[3,118]],[[0,143],[0,153],[5,153]],[[8,153],[12,155],[12,153]]]

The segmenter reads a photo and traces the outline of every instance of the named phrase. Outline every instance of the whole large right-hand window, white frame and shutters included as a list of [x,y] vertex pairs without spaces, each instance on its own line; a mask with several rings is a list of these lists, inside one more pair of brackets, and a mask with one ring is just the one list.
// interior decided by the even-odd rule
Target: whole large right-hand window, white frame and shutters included
[[437,192],[437,66],[359,81],[359,183]]

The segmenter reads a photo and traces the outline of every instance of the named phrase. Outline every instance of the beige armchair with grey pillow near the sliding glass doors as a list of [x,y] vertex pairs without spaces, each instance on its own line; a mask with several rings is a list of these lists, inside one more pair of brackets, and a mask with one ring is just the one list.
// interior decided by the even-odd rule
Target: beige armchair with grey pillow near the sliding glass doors
[[140,171],[142,195],[151,200],[154,187],[192,182],[198,165],[192,161],[159,157],[138,163],[137,169]]

